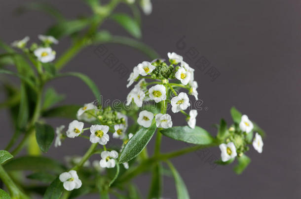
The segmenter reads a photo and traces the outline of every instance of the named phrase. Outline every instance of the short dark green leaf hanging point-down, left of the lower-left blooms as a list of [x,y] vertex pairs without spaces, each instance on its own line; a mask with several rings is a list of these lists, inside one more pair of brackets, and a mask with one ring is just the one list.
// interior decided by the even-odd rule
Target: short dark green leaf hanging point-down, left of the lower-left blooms
[[39,148],[46,153],[54,139],[54,129],[48,124],[36,123],[36,138]]

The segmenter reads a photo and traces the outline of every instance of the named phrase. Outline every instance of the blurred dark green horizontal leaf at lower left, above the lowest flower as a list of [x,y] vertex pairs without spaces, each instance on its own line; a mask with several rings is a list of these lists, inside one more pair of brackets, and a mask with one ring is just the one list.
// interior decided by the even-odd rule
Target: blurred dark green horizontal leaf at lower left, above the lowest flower
[[4,166],[6,171],[29,170],[29,171],[52,171],[62,173],[65,168],[55,160],[41,156],[23,156],[14,158]]

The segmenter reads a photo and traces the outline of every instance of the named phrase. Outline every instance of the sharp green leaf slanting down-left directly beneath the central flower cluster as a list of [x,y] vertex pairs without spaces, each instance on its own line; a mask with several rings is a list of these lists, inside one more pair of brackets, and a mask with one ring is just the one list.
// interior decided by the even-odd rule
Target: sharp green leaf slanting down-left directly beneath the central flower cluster
[[141,128],[123,147],[118,162],[125,163],[135,158],[150,142],[155,130],[155,123],[153,123],[149,128]]

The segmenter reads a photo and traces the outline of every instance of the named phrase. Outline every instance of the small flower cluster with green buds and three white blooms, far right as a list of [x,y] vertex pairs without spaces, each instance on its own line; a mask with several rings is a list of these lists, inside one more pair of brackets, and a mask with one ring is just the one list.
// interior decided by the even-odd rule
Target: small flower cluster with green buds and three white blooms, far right
[[[241,116],[239,127],[235,128],[231,126],[228,130],[229,136],[226,138],[226,143],[220,144],[221,158],[223,162],[230,161],[236,156],[242,156],[242,154],[249,150],[247,146],[248,137],[253,136],[253,123],[247,115]],[[263,139],[259,133],[256,133],[253,140],[253,147],[259,153],[263,151]]]

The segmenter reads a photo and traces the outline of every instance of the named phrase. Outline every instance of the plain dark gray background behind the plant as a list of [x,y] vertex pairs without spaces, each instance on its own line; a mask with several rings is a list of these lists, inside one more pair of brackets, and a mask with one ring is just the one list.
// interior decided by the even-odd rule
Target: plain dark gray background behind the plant
[[[266,131],[263,153],[253,147],[248,152],[252,162],[241,175],[232,172],[232,166],[211,169],[208,162],[191,153],[172,162],[180,171],[188,187],[191,199],[200,198],[301,198],[301,150],[300,150],[300,64],[301,64],[301,2],[298,0],[152,0],[153,12],[143,16],[142,41],[152,46],[161,57],[167,52],[184,55],[194,67],[195,60],[185,56],[194,47],[210,61],[221,75],[214,81],[196,67],[195,79],[199,83],[199,97],[203,107],[199,111],[197,125],[215,135],[211,124],[221,117],[230,122],[229,109],[235,105],[241,112]],[[21,0],[1,1],[0,38],[7,43],[14,39],[43,33],[53,20],[40,12],[21,17],[13,10],[24,3]],[[79,0],[53,0],[67,17],[74,18],[89,13],[89,8]],[[119,10],[129,11],[125,7]],[[107,21],[104,28],[114,34],[127,35],[122,28]],[[186,50],[177,49],[176,43],[186,36]],[[70,44],[68,39],[55,46],[60,55]],[[132,69],[147,57],[128,47],[106,47]],[[64,71],[79,71],[89,75],[99,86],[104,99],[125,99],[126,78],[113,72],[103,59],[94,54],[95,47],[83,50]],[[58,92],[66,93],[65,103],[83,104],[93,101],[93,95],[79,80],[65,78],[50,84]],[[3,96],[1,96],[3,98]],[[49,120],[51,124],[68,124],[69,120]],[[174,125],[182,125],[185,119],[175,115]],[[9,117],[0,111],[0,145],[4,147],[11,135]],[[80,144],[80,145],[78,145]],[[81,139],[67,140],[62,147],[54,148],[48,156],[83,154],[89,143]],[[80,147],[79,147],[80,146]],[[152,150],[153,140],[149,144]],[[164,138],[162,151],[185,147],[183,142]],[[216,157],[220,151],[210,153]],[[96,157],[97,158],[97,157]],[[135,179],[142,193],[147,193],[150,176]],[[175,199],[173,179],[164,180],[165,198]],[[93,198],[88,196],[85,198]],[[95,197],[98,198],[98,197]]]

